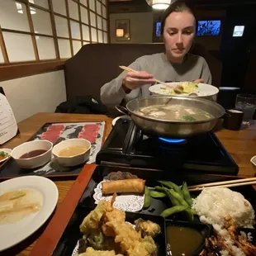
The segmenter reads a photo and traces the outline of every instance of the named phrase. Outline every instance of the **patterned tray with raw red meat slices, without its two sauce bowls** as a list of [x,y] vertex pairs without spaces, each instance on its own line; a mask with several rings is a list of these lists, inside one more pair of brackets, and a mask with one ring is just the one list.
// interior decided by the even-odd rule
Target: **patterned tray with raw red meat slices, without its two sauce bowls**
[[[85,164],[93,164],[97,152],[101,149],[105,137],[105,121],[97,122],[72,122],[72,123],[46,123],[31,137],[31,140],[50,140],[54,145],[63,140],[83,138],[92,144],[90,159]],[[77,177],[84,164],[74,167],[61,167],[55,161],[45,164],[40,168],[22,169],[14,159],[7,160],[0,166],[0,179],[14,178],[26,175],[38,175],[44,177]]]

